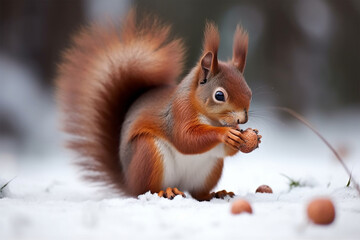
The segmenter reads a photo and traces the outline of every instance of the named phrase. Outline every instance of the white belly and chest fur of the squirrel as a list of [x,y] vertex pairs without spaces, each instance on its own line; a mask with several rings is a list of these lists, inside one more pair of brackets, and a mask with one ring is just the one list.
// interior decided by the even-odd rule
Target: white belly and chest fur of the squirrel
[[157,139],[164,166],[163,188],[177,187],[181,191],[201,189],[219,158],[225,156],[219,144],[202,154],[182,154],[165,140]]

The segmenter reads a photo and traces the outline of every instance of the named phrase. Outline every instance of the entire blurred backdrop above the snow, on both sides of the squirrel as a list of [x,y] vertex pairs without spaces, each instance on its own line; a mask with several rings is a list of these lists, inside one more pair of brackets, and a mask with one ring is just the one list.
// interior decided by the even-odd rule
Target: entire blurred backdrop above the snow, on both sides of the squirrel
[[54,100],[61,52],[84,24],[118,22],[132,6],[184,38],[186,71],[201,53],[206,19],[219,26],[222,60],[231,57],[241,23],[250,35],[245,77],[253,111],[265,122],[271,106],[306,116],[360,111],[358,0],[0,0],[0,164],[61,149]]

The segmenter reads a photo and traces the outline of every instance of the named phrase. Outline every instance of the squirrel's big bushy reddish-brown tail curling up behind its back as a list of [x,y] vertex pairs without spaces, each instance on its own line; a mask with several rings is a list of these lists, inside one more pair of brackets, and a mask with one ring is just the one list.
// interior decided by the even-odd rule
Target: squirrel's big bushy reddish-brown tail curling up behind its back
[[122,27],[92,25],[73,38],[56,79],[57,98],[80,155],[85,177],[126,193],[119,159],[120,132],[130,105],[151,88],[175,84],[183,45],[169,39],[170,27],[134,12]]

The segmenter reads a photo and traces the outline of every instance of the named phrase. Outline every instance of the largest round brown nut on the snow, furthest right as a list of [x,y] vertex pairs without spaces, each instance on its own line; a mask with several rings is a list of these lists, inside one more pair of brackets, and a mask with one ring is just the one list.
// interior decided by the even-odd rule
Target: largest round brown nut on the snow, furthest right
[[335,207],[328,198],[316,198],[307,207],[309,219],[315,224],[330,224],[335,219]]

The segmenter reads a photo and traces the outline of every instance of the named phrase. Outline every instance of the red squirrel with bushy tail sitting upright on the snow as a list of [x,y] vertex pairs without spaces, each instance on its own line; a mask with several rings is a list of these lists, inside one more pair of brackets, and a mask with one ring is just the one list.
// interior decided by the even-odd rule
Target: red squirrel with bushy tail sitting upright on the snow
[[182,41],[158,20],[135,18],[120,29],[84,28],[64,52],[56,83],[68,146],[87,179],[121,194],[232,197],[211,190],[224,157],[246,146],[238,124],[247,122],[252,96],[243,76],[248,34],[238,26],[232,59],[219,61],[219,33],[207,23],[201,58],[177,83]]

